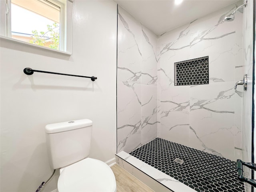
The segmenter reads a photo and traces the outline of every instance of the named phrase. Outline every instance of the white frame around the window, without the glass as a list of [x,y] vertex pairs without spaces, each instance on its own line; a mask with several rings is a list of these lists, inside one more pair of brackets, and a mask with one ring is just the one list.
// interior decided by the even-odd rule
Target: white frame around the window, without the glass
[[72,4],[73,0],[47,0],[60,7],[60,50],[39,46],[12,38],[11,32],[11,0],[0,0],[0,36],[1,38],[31,45],[54,52],[72,54]]

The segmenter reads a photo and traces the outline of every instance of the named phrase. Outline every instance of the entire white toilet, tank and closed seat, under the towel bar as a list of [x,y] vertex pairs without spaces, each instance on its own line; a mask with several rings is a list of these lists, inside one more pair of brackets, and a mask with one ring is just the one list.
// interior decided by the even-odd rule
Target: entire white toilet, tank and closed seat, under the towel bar
[[110,167],[90,153],[92,121],[88,119],[45,127],[50,166],[60,168],[58,192],[116,192]]

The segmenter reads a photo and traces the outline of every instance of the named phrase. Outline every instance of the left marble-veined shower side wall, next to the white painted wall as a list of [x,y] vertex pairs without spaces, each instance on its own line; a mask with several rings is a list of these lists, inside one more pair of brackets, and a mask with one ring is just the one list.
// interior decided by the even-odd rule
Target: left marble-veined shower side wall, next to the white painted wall
[[157,36],[118,6],[117,152],[157,136]]

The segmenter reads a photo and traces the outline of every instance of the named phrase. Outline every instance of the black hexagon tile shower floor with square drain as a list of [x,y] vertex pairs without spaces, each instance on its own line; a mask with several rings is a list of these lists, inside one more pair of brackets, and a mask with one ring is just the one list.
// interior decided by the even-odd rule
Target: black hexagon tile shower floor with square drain
[[130,155],[198,192],[245,192],[244,183],[237,179],[236,162],[220,156],[161,138]]

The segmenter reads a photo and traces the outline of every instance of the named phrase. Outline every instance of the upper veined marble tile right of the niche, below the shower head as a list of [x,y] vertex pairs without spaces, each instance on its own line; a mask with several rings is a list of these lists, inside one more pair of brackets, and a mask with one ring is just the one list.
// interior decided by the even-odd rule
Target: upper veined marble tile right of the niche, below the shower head
[[225,11],[228,8],[191,26],[190,57],[209,56],[210,83],[234,80],[235,23],[222,21]]

